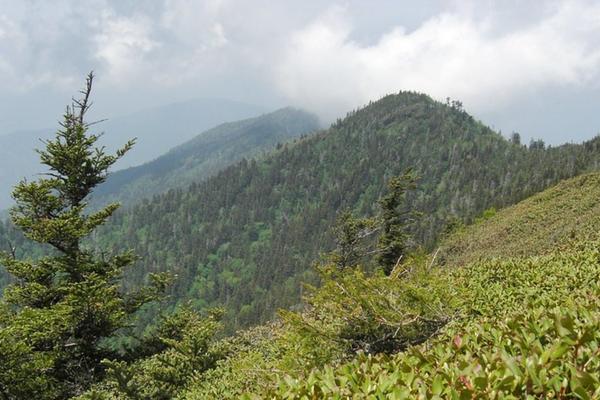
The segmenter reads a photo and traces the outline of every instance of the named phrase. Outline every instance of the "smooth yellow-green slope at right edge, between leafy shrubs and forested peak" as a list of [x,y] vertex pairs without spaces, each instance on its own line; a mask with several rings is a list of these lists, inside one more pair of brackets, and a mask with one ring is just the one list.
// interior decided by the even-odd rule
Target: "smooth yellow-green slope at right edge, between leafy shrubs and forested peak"
[[443,241],[438,257],[448,265],[464,265],[542,255],[570,239],[589,238],[599,223],[600,174],[584,174],[458,230]]

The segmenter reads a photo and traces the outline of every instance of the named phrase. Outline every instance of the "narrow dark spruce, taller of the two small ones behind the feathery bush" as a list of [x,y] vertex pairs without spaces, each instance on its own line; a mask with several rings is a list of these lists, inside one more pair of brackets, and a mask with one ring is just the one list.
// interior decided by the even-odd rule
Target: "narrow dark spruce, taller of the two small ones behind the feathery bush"
[[409,169],[388,182],[388,193],[379,200],[381,207],[381,234],[378,240],[377,261],[389,275],[406,254],[409,234],[407,224],[413,212],[405,207],[406,192],[416,187],[416,177]]

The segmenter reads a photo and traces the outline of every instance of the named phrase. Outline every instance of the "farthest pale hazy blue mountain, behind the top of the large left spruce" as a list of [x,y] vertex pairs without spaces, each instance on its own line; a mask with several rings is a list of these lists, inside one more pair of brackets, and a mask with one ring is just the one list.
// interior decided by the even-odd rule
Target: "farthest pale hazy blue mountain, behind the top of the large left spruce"
[[[196,99],[109,118],[92,131],[106,132],[100,142],[116,149],[137,137],[138,143],[117,165],[127,168],[150,161],[218,124],[257,116],[261,107],[223,99]],[[103,118],[100,116],[99,118]],[[0,209],[11,204],[12,187],[24,177],[40,172],[36,148],[40,139],[52,137],[56,128],[22,131],[0,136]]]

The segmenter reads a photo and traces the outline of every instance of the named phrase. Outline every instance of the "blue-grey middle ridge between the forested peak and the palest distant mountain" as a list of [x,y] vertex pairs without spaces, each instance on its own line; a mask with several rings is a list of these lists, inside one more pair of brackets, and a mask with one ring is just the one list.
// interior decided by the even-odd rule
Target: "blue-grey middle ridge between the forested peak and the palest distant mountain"
[[199,182],[241,160],[266,152],[319,128],[316,116],[284,108],[209,129],[155,160],[117,171],[95,192],[93,201],[132,203]]

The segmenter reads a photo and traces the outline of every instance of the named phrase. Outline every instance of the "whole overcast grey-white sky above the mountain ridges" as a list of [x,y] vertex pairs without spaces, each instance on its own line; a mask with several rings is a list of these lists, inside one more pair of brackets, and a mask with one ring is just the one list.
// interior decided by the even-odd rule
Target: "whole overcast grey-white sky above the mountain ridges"
[[53,126],[92,69],[102,117],[221,97],[329,121],[416,90],[581,141],[600,132],[600,2],[0,0],[0,133]]

